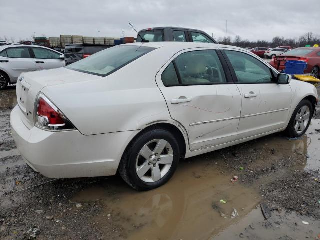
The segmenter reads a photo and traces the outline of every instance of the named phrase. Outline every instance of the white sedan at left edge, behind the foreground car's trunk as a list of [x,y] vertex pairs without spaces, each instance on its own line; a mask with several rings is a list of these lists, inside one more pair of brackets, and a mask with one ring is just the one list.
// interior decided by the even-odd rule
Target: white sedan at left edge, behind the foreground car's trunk
[[16,83],[22,72],[46,70],[64,66],[61,52],[36,45],[0,46],[0,90]]

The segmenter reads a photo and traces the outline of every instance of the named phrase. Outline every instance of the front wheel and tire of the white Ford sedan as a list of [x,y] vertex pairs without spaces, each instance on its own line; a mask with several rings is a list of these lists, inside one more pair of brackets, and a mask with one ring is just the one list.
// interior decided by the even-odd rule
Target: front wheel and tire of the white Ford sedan
[[285,134],[288,137],[300,137],[308,129],[312,119],[313,108],[309,100],[302,100],[295,108]]

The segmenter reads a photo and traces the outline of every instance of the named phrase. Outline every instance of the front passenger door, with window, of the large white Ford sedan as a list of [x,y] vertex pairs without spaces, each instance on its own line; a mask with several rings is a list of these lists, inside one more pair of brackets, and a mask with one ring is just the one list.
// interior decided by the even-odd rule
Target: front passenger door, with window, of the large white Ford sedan
[[227,49],[224,52],[241,93],[237,139],[283,128],[292,99],[289,84],[276,84],[275,72],[249,54]]

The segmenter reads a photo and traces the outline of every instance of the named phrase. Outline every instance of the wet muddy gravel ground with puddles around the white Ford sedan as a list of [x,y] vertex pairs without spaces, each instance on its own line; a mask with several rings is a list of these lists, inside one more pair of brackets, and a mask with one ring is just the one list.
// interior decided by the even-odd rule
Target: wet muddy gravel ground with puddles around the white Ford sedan
[[136,192],[119,176],[33,172],[11,137],[14,96],[14,86],[0,91],[0,239],[320,238],[319,107],[298,139],[278,133],[181,160],[166,185]]

